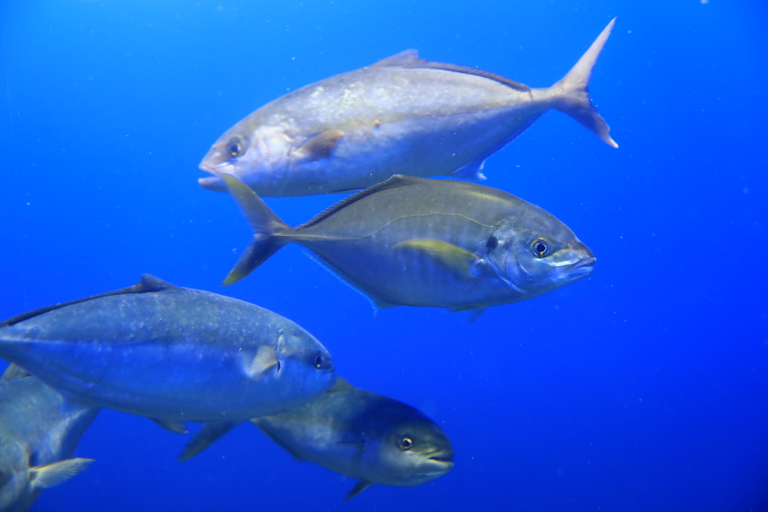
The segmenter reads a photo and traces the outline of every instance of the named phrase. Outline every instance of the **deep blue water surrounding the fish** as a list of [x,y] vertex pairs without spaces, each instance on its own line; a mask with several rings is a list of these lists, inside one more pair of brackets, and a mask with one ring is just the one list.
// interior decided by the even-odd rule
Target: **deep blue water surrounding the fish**
[[[354,385],[422,409],[454,470],[372,487],[242,425],[187,438],[103,411],[88,471],[33,510],[768,510],[764,2],[0,3],[0,317],[152,273],[298,322]],[[406,48],[553,84],[613,16],[591,94],[488,160],[598,256],[537,299],[458,315],[369,302],[295,246],[219,285],[250,239],[200,158],[286,91]],[[267,200],[301,223],[339,197]]]

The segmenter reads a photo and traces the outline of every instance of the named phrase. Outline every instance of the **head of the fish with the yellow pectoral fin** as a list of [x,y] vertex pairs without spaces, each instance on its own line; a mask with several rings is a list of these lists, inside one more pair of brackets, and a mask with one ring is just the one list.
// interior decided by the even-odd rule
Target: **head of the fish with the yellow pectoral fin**
[[597,261],[568,226],[532,204],[496,226],[485,251],[497,276],[531,297],[589,276]]

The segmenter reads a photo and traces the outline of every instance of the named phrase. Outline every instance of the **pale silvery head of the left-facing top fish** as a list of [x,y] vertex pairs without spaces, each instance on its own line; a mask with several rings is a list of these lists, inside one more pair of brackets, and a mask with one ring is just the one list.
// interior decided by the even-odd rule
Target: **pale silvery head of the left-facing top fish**
[[[247,122],[248,121],[248,122]],[[197,180],[208,190],[226,192],[221,174],[231,174],[253,189],[280,181],[288,168],[291,139],[286,124],[253,127],[248,118],[236,124],[210,148],[200,170],[214,176]]]

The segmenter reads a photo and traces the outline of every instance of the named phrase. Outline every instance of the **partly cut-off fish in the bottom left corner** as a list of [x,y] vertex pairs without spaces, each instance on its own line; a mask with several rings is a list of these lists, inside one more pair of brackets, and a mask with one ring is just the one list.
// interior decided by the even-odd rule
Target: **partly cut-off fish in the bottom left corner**
[[28,510],[43,489],[91,465],[93,459],[70,457],[99,410],[8,366],[0,378],[0,512]]

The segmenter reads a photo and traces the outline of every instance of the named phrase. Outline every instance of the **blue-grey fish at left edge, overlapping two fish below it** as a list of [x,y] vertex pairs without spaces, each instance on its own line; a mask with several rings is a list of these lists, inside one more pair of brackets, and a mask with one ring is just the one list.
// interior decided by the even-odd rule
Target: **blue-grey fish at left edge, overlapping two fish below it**
[[172,431],[287,411],[335,380],[326,348],[289,319],[148,274],[0,323],[0,357],[68,397]]

